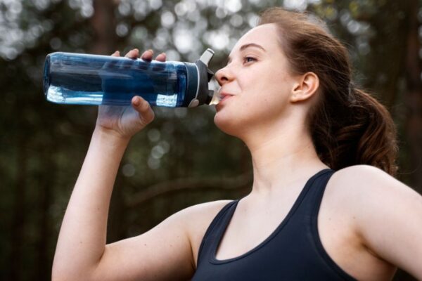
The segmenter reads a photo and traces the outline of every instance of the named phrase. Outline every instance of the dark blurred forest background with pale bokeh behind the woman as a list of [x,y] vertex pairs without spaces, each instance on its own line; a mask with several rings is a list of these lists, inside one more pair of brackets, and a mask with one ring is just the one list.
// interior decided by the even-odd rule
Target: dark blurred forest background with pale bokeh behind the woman
[[[46,54],[136,47],[193,62],[210,47],[210,67],[218,70],[269,6],[313,11],[347,45],[357,84],[397,124],[397,178],[422,192],[420,0],[0,0],[0,280],[50,279],[60,223],[94,129],[96,107],[44,100]],[[192,204],[250,190],[249,152],[215,127],[213,107],[155,113],[122,160],[108,242],[139,235]],[[399,271],[395,280],[414,279]]]

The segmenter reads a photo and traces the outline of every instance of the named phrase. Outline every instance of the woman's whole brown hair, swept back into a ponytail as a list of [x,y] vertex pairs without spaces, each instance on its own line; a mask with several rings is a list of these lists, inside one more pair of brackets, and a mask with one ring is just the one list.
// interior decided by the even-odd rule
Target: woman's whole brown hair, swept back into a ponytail
[[307,125],[321,161],[335,170],[369,164],[395,175],[395,124],[381,103],[352,83],[345,46],[309,13],[269,8],[259,25],[267,23],[277,25],[291,71],[319,77],[319,100],[309,110]]

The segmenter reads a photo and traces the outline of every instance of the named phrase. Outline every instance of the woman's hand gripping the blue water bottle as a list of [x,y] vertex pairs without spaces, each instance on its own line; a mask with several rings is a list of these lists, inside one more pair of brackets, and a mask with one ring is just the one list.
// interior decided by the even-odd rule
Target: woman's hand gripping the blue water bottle
[[[115,51],[113,56],[120,56],[119,51]],[[125,57],[138,58],[138,49],[135,48],[129,51]],[[153,51],[143,52],[141,59],[151,62]],[[160,53],[155,58],[155,60],[161,62],[165,62],[165,59],[165,53]],[[131,138],[136,132],[141,131],[141,129],[151,123],[153,119],[154,112],[151,109],[151,105],[140,96],[134,96],[132,105],[129,106],[100,105],[98,107],[96,129],[113,133],[121,138]]]

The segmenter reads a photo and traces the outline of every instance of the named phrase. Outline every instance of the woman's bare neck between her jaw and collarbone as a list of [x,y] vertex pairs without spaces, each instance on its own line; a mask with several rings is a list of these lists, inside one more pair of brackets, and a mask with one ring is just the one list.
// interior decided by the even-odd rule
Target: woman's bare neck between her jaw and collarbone
[[293,125],[260,129],[243,139],[252,155],[250,195],[271,196],[328,168],[316,155],[305,124]]

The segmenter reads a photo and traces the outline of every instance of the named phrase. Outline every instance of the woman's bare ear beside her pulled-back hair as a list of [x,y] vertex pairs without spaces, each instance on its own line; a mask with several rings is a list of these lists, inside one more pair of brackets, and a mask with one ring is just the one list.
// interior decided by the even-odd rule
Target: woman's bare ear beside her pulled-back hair
[[293,84],[293,91],[290,96],[291,103],[311,98],[319,87],[319,78],[314,72],[307,72],[300,75]]

